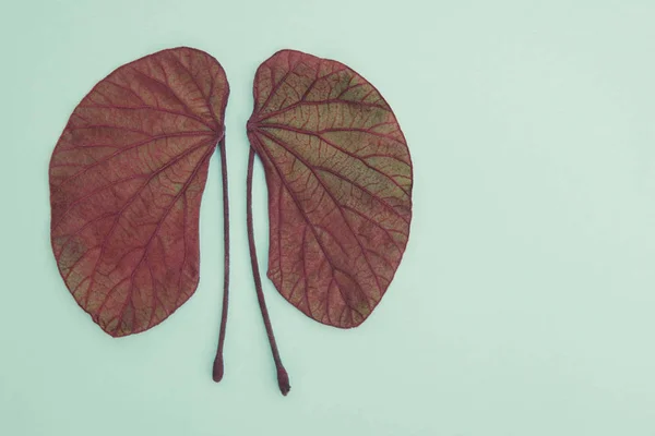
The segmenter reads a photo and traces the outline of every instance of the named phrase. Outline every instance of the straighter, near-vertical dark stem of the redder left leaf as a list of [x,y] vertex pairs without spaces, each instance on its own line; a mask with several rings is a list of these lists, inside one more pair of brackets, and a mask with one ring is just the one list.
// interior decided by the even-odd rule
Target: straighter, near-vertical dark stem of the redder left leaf
[[223,269],[223,313],[221,315],[221,330],[218,332],[218,348],[212,377],[218,383],[223,379],[223,344],[225,343],[225,328],[227,326],[227,308],[229,301],[229,199],[227,191],[227,154],[225,150],[225,135],[218,142],[218,152],[221,153],[221,172],[223,174],[223,238],[224,238],[224,269]]

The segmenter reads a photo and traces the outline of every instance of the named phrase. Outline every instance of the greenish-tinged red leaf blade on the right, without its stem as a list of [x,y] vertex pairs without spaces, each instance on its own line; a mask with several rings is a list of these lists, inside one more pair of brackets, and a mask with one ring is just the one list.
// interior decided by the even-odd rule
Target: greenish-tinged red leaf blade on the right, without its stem
[[348,66],[283,50],[257,71],[248,136],[269,187],[269,278],[311,318],[358,326],[409,234],[412,161],[391,108]]

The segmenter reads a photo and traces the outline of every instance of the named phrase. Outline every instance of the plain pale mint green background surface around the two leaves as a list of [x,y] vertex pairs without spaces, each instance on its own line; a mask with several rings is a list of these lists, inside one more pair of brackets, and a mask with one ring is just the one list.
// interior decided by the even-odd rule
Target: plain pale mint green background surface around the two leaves
[[[0,21],[0,435],[655,435],[652,0],[14,1]],[[102,332],[49,247],[48,160],[71,111],[180,45],[231,86],[221,385],[217,157],[200,287],[153,330]],[[405,258],[362,327],[312,323],[265,281],[283,398],[249,266],[245,123],[257,66],[287,47],[382,90],[416,179]],[[265,207],[258,165],[264,265]]]

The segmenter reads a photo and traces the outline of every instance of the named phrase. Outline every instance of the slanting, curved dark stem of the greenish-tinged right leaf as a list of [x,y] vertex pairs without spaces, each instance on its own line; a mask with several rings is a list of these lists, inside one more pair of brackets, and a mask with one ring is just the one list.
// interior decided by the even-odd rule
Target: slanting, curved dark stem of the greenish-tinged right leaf
[[279,352],[277,351],[277,343],[275,342],[275,335],[273,335],[273,326],[271,325],[271,318],[269,317],[269,311],[266,310],[266,302],[264,300],[264,293],[262,291],[262,279],[259,274],[259,263],[257,261],[257,249],[254,246],[254,231],[252,226],[252,171],[254,167],[254,149],[250,147],[250,156],[248,158],[248,179],[247,179],[247,220],[248,220],[248,244],[250,245],[250,261],[252,263],[252,278],[254,279],[254,289],[257,290],[257,299],[262,311],[262,318],[264,319],[264,326],[266,327],[266,335],[269,336],[269,343],[271,343],[271,352],[273,353],[273,360],[275,361],[275,368],[277,370],[277,385],[282,395],[286,396],[291,388],[289,385],[289,376],[282,364],[279,359]]

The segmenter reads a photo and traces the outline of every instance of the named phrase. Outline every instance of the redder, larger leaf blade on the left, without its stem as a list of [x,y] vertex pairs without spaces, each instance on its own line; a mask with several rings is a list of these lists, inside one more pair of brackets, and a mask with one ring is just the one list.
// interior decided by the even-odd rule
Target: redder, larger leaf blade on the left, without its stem
[[100,81],[55,147],[52,251],[111,336],[159,324],[198,287],[200,204],[228,94],[207,53],[159,51]]

